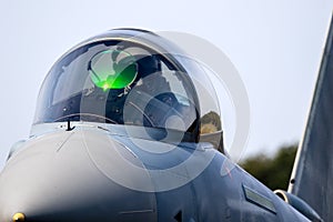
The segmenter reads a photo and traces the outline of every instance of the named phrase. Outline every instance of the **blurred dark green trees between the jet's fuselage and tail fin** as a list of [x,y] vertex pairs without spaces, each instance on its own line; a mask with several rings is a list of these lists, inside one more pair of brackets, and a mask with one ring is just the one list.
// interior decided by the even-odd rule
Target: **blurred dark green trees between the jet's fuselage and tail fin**
[[270,158],[259,154],[241,163],[242,168],[272,190],[286,190],[297,145],[287,145]]

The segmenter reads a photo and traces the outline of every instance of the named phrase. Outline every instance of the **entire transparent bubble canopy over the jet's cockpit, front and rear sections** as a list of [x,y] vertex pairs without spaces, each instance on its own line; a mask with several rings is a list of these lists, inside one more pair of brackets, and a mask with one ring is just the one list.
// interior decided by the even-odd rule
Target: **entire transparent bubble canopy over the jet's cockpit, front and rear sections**
[[[201,134],[221,132],[205,71],[178,47],[141,30],[111,30],[74,47],[42,85],[34,125],[84,121]],[[213,102],[212,102],[212,101]],[[210,105],[206,107],[205,103]]]

